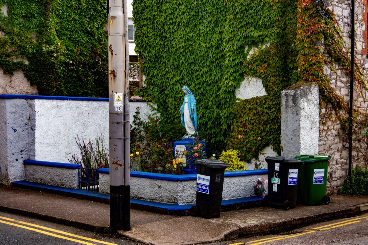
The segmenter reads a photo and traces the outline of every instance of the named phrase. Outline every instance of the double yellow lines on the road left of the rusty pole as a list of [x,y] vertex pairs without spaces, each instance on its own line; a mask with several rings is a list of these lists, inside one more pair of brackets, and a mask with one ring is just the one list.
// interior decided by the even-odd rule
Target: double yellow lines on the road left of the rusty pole
[[[9,221],[11,221],[11,222],[9,222]],[[82,237],[82,236],[75,235],[75,234],[72,234],[72,233],[67,233],[67,232],[64,232],[64,231],[55,230],[55,229],[48,228],[48,227],[45,227],[45,226],[39,226],[37,224],[31,224],[31,223],[27,223],[27,222],[24,222],[24,221],[10,219],[10,218],[7,218],[7,217],[2,217],[2,216],[0,216],[0,223],[8,224],[8,225],[11,225],[11,226],[16,226],[16,227],[20,227],[20,228],[24,228],[24,229],[31,230],[31,231],[36,231],[36,232],[39,232],[39,233],[42,233],[42,234],[50,235],[52,237],[58,237],[58,238],[61,238],[61,239],[66,239],[66,240],[69,240],[69,241],[74,241],[74,242],[78,242],[78,243],[86,244],[86,245],[96,245],[95,243],[90,243],[90,242],[86,242],[86,241],[91,241],[91,242],[96,242],[96,243],[99,243],[99,244],[106,244],[106,245],[117,245],[117,244],[114,244],[114,243],[111,243],[111,242],[104,242],[104,241],[99,241],[99,240],[88,238],[88,237]],[[27,226],[23,226],[21,224],[25,224]],[[40,228],[40,229],[43,229],[43,230],[39,230],[39,229],[32,228],[32,227],[37,227],[37,228]],[[50,232],[47,232],[47,231],[52,231],[54,233],[50,233]],[[62,235],[67,235],[69,237],[65,237],[65,236],[62,236],[62,235],[55,234],[55,233],[62,234]],[[75,239],[75,238],[83,239],[85,241],[78,240],[78,239]]]

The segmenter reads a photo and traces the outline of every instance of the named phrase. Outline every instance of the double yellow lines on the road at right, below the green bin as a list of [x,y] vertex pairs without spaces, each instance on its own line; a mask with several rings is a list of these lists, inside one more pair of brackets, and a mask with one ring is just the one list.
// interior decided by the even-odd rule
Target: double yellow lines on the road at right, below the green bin
[[[280,237],[264,238],[264,239],[259,239],[259,240],[250,241],[250,242],[246,242],[246,243],[247,243],[247,245],[260,245],[260,244],[263,244],[263,243],[266,243],[266,242],[279,241],[279,240],[286,239],[286,238],[293,238],[293,237],[298,237],[298,236],[305,235],[305,234],[311,234],[311,233],[314,233],[316,231],[323,231],[323,230],[328,230],[328,229],[332,229],[332,228],[336,228],[336,227],[340,227],[340,226],[346,226],[348,224],[358,223],[358,222],[361,222],[363,219],[368,220],[368,216],[360,217],[360,218],[356,218],[356,219],[345,220],[345,221],[341,221],[341,222],[337,222],[337,223],[333,223],[333,224],[328,224],[326,226],[315,227],[315,228],[312,228],[311,230],[305,230],[304,232],[299,233],[299,234],[283,235],[283,236],[280,236]],[[229,244],[229,245],[244,245],[244,243],[243,242],[238,242],[238,243],[233,243],[233,244]]]

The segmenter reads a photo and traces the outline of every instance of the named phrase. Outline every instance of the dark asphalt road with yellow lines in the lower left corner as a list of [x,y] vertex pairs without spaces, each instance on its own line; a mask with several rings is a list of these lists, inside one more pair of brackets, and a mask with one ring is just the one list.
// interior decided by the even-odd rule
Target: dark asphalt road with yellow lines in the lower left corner
[[119,236],[98,234],[30,217],[0,212],[0,245],[141,245]]

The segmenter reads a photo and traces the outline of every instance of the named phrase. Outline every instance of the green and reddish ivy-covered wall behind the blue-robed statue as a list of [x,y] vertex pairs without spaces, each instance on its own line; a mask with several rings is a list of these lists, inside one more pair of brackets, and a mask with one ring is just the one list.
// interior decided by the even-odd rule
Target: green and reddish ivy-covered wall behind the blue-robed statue
[[[246,161],[268,145],[282,151],[280,91],[291,84],[316,83],[321,101],[346,111],[324,74],[325,65],[338,64],[348,75],[341,30],[334,13],[323,19],[312,0],[134,0],[133,15],[146,76],[140,94],[158,102],[166,137],[184,132],[184,85],[196,96],[199,136],[210,153],[240,149]],[[357,89],[366,90],[355,70]],[[267,95],[237,102],[244,76],[262,79]]]

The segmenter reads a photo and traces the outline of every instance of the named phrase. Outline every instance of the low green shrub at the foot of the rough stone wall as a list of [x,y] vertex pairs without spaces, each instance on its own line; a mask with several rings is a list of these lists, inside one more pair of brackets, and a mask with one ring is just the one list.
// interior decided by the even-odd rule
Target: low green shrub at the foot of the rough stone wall
[[345,179],[340,187],[339,194],[368,195],[368,169],[357,165],[351,173],[351,178]]

